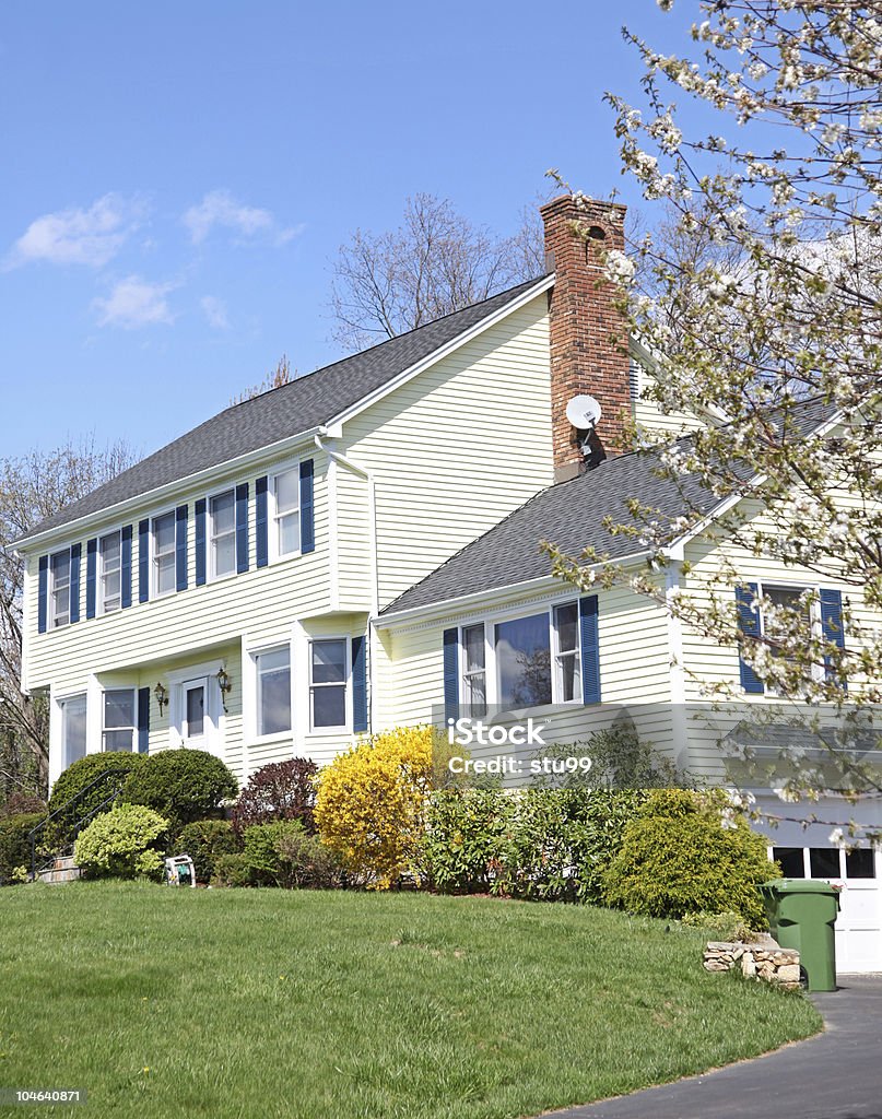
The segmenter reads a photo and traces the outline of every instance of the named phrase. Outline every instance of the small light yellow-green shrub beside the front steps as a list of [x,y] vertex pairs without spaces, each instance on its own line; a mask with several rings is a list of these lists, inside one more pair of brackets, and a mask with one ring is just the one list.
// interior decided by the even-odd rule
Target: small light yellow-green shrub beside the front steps
[[77,866],[88,877],[157,877],[162,855],[157,841],[168,820],[143,805],[118,805],[96,816],[74,844]]

